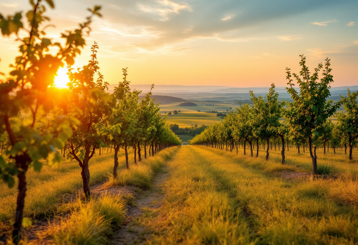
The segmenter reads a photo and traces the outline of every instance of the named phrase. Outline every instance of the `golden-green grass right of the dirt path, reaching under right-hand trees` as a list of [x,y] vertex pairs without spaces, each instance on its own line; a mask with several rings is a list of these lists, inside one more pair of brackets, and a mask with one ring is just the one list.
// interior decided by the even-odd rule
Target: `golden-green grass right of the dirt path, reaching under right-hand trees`
[[357,244],[357,162],[319,152],[330,174],[310,172],[308,154],[279,151],[270,160],[203,146],[182,146],[168,163],[163,206],[141,217],[149,244]]

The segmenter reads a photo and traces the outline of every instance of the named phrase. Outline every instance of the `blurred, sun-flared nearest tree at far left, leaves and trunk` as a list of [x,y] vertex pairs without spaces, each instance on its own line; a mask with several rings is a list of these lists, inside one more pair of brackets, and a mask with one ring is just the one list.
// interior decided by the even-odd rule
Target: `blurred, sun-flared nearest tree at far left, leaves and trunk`
[[[46,3],[53,8],[52,0]],[[62,149],[68,138],[72,136],[72,128],[76,129],[78,121],[66,114],[54,114],[57,107],[55,90],[48,87],[53,84],[59,67],[66,62],[73,64],[85,44],[83,32],[89,32],[89,24],[94,15],[99,15],[99,6],[95,6],[86,22],[74,31],[62,34],[64,44],[53,43],[45,37],[44,16],[45,5],[39,0],[30,1],[32,10],[26,13],[24,25],[22,12],[14,16],[4,17],[0,14],[0,29],[5,36],[16,35],[19,42],[20,55],[11,65],[9,78],[0,81],[0,134],[7,132],[9,148],[0,156],[0,176],[14,185],[13,176],[19,179],[19,196],[16,208],[13,239],[19,242],[19,231],[23,220],[24,198],[26,194],[25,174],[29,168],[40,171],[41,159],[50,165],[61,162]],[[25,27],[24,27],[25,26]],[[27,28],[26,28],[27,27]],[[19,31],[28,33],[20,37]],[[48,52],[54,49],[54,52]],[[20,113],[28,116],[22,117]]]

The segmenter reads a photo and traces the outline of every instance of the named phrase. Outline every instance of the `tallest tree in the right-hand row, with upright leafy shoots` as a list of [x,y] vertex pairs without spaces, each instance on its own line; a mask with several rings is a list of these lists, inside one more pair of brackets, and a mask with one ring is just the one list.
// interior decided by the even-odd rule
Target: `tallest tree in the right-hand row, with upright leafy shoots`
[[[301,71],[297,75],[291,75],[290,68],[286,68],[287,91],[290,93],[294,102],[287,103],[285,111],[285,120],[289,126],[291,135],[299,135],[308,138],[309,151],[312,158],[313,174],[317,173],[317,156],[312,152],[312,143],[317,144],[320,136],[323,136],[324,123],[329,116],[332,116],[340,102],[332,105],[333,101],[327,100],[330,96],[330,83],[333,82],[330,68],[330,59],[326,58],[325,65],[318,64],[314,69],[314,73],[310,75],[310,71],[306,66],[306,57],[301,57]],[[319,72],[323,69],[323,77],[319,80]],[[292,76],[295,77],[300,92],[294,89]],[[313,142],[312,142],[313,140]],[[316,146],[315,146],[316,148]]]

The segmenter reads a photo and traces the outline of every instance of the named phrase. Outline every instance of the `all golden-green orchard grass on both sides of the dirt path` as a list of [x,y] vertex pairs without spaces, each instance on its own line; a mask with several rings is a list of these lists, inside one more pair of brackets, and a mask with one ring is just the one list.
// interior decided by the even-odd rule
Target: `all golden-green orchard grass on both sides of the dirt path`
[[[146,244],[358,244],[358,163],[349,161],[343,150],[336,152],[318,150],[319,172],[323,174],[312,177],[309,154],[297,154],[295,148],[286,151],[287,164],[281,165],[278,149],[270,150],[270,160],[265,161],[263,149],[256,158],[244,156],[242,147],[236,154],[204,146],[178,146],[142,164],[131,164],[130,170],[123,168],[121,151],[117,179],[108,178],[113,155],[105,153],[90,164],[91,185],[129,185],[150,191],[156,174],[166,168],[168,174],[154,193],[162,198],[153,199],[155,208],[142,207],[132,223],[142,227]],[[61,215],[63,198],[81,187],[79,172],[74,162],[29,172],[25,216],[41,220]],[[295,176],[292,173],[301,177],[290,177]],[[16,189],[0,187],[1,227],[5,227],[13,216]],[[90,227],[94,229],[91,239],[100,241],[93,244],[107,244],[118,229],[113,222],[121,226],[125,216],[131,215],[124,213],[130,208],[124,206],[128,197],[118,198],[104,196],[96,202],[74,203],[72,215],[50,227],[47,234],[57,234],[59,240],[53,238],[57,244],[86,244],[84,237],[89,233],[79,232],[82,226]],[[120,229],[134,232],[133,226]],[[132,244],[137,244],[135,241]]]

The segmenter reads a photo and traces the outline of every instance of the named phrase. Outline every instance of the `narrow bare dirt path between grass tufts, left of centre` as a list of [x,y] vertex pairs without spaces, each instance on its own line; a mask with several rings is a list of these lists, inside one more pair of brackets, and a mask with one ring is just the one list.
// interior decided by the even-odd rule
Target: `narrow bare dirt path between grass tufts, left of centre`
[[112,239],[111,244],[142,244],[149,236],[145,227],[136,224],[139,218],[146,210],[157,210],[161,206],[161,200],[164,193],[162,192],[162,184],[166,177],[168,177],[167,169],[163,169],[163,174],[158,174],[155,178],[153,188],[144,191],[141,197],[136,200],[136,207],[128,207],[127,221]]

